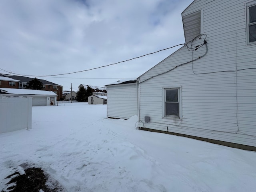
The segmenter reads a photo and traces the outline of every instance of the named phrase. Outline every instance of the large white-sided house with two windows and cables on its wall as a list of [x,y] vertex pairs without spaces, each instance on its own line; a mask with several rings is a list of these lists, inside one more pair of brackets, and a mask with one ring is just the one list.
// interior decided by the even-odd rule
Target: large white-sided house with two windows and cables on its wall
[[256,150],[256,0],[194,0],[182,20],[186,45],[137,79],[138,126]]

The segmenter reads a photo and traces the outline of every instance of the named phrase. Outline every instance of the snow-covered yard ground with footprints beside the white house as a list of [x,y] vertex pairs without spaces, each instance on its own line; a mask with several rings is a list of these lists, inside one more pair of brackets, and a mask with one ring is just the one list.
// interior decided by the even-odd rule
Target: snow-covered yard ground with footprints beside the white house
[[106,105],[32,107],[32,129],[0,134],[0,191],[13,168],[42,167],[68,192],[252,192],[256,152],[146,132]]

